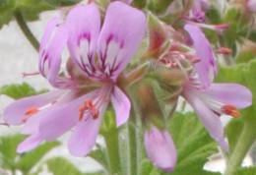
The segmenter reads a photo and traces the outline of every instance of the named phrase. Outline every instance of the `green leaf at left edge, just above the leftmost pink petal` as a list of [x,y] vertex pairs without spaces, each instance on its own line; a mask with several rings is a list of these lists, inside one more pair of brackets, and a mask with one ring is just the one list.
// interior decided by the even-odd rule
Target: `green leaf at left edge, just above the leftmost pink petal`
[[46,90],[36,91],[32,86],[30,86],[27,83],[11,84],[11,85],[0,87],[0,95],[5,94],[15,99],[42,93],[44,91]]

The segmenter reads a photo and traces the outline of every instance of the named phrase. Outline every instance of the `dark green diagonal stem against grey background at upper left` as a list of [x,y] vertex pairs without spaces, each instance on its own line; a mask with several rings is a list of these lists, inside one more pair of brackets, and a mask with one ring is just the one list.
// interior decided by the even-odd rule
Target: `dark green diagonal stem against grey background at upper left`
[[18,23],[20,29],[22,29],[23,33],[26,35],[28,40],[31,42],[33,48],[38,51],[39,43],[38,43],[37,39],[35,38],[35,36],[32,34],[31,29],[28,27],[22,13],[19,10],[17,10],[15,12],[14,16],[15,16],[15,20]]

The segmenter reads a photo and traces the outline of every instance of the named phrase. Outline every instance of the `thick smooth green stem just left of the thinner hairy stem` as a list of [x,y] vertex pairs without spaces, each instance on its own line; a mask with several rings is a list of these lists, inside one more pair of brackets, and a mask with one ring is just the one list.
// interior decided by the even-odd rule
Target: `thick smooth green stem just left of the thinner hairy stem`
[[120,166],[120,155],[119,155],[119,146],[118,146],[118,131],[117,129],[111,130],[111,132],[103,135],[107,155],[108,155],[108,166],[110,174],[120,174],[121,166]]

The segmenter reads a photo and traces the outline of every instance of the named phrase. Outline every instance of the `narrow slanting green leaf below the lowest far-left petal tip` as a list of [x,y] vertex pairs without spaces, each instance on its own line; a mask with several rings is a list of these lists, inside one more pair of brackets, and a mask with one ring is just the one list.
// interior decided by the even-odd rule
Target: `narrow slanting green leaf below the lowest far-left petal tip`
[[27,174],[47,152],[56,146],[59,146],[59,143],[45,143],[30,152],[22,154],[21,158],[17,162],[17,168],[20,169],[24,174]]

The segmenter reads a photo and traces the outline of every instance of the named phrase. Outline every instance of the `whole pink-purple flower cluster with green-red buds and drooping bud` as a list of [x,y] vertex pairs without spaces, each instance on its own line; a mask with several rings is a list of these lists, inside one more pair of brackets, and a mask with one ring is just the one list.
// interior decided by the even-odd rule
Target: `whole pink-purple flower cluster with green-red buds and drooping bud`
[[[171,172],[176,148],[164,125],[167,119],[161,111],[162,99],[146,79],[154,80],[162,91],[171,94],[169,101],[177,103],[183,97],[211,137],[228,151],[220,117],[239,117],[238,109],[251,105],[252,94],[240,85],[213,83],[218,74],[216,54],[229,50],[213,49],[203,32],[220,32],[228,26],[206,25],[209,4],[195,0],[179,29],[149,13],[147,37],[146,14],[129,3],[111,2],[104,14],[94,2],[77,5],[65,18],[55,17],[48,23],[40,42],[39,72],[55,89],[20,99],[4,111],[7,124],[23,125],[23,134],[29,135],[18,147],[19,152],[54,141],[72,130],[70,152],[87,155],[96,144],[110,102],[117,127],[127,122],[133,96],[126,89],[135,85],[148,157]],[[102,25],[100,15],[104,16]],[[126,69],[143,40],[148,41],[148,49]],[[70,56],[62,70],[65,48]],[[152,65],[158,69],[150,69]]]

